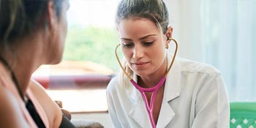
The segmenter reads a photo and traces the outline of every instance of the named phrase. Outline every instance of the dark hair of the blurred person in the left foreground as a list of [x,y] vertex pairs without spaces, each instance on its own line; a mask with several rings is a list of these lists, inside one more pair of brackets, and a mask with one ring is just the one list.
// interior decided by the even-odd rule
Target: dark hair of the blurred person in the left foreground
[[[11,45],[13,40],[26,37],[48,25],[47,10],[50,0],[0,0],[0,45]],[[60,18],[62,2],[53,0]]]

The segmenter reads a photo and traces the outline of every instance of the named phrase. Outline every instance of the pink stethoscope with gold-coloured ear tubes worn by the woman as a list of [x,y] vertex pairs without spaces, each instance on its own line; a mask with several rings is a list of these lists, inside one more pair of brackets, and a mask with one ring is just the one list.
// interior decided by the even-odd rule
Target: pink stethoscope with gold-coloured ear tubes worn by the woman
[[[140,91],[140,94],[142,95],[143,97],[143,100],[145,102],[145,105],[146,105],[146,109],[147,109],[147,112],[148,112],[148,116],[150,118],[150,121],[151,121],[151,126],[153,128],[156,128],[156,123],[154,122],[154,117],[153,117],[153,110],[154,110],[154,99],[156,97],[156,94],[157,94],[157,91],[158,89],[163,85],[163,83],[165,83],[165,80],[166,80],[166,77],[167,77],[167,74],[168,72],[170,71],[170,69],[172,68],[173,66],[173,62],[174,62],[174,59],[176,58],[176,53],[177,53],[177,50],[178,50],[178,43],[176,42],[175,39],[172,39],[172,38],[168,38],[167,40],[173,40],[176,44],[176,50],[174,52],[174,55],[173,55],[173,60],[171,61],[170,63],[170,66],[169,68],[167,69],[167,72],[165,74],[165,76],[159,81],[159,83],[157,83],[156,86],[152,87],[152,88],[142,88],[138,85],[138,83],[136,83],[134,80],[132,80],[132,78],[128,75],[128,73],[125,71],[124,67],[122,66],[121,64],[121,61],[119,60],[118,58],[118,55],[117,55],[117,48],[121,45],[121,44],[118,44],[116,46],[116,50],[115,50],[115,53],[116,53],[116,59],[118,61],[118,64],[120,65],[121,69],[123,70],[123,72],[125,73],[125,75],[127,75],[127,77],[129,78],[129,81],[133,84],[133,86],[135,86],[136,89],[138,89],[138,91]],[[146,99],[146,92],[152,92],[151,94],[151,100],[150,100],[150,105],[148,105],[148,100]]]

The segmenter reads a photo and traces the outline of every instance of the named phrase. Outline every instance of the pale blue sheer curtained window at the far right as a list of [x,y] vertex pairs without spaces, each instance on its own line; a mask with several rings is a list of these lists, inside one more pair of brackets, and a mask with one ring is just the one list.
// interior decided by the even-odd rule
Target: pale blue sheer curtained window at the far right
[[222,71],[230,101],[255,101],[256,1],[203,1],[205,60]]

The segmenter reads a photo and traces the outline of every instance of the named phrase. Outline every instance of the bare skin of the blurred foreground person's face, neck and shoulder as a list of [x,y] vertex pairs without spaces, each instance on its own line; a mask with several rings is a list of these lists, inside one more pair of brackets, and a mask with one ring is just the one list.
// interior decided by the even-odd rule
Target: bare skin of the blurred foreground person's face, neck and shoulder
[[[45,90],[38,83],[31,80],[32,73],[42,64],[57,64],[61,61],[64,50],[64,42],[67,33],[67,9],[68,4],[63,2],[63,10],[60,19],[57,18],[53,1],[48,2],[48,28],[38,29],[34,34],[17,39],[14,43],[15,55],[18,57],[4,57],[9,64],[13,64],[12,70],[18,80],[23,94],[30,88],[39,104],[42,105],[50,123],[50,127],[59,127],[61,123],[61,110],[53,102]],[[26,51],[26,52],[25,52]],[[12,54],[12,53],[9,53]],[[7,53],[8,55],[8,53]],[[19,56],[22,55],[22,56]],[[9,70],[5,70],[10,75]],[[1,75],[0,75],[1,77]],[[9,80],[13,85],[12,79]],[[1,83],[0,83],[1,84]],[[1,127],[28,127],[23,113],[18,106],[12,92],[0,85],[0,126]],[[18,92],[16,92],[18,93]]]

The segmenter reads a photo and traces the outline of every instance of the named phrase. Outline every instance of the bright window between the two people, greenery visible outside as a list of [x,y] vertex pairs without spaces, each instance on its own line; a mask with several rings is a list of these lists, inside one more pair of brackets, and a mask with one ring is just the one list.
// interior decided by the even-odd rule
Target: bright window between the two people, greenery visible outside
[[34,73],[53,100],[70,112],[107,111],[105,88],[118,69],[115,12],[118,0],[72,0],[63,61]]

